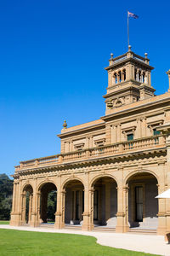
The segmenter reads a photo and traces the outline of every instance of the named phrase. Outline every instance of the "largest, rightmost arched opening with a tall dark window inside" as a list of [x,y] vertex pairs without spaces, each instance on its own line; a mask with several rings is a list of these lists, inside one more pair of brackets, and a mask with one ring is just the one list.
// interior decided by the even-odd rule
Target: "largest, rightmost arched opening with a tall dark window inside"
[[130,228],[157,229],[157,183],[156,177],[149,172],[140,172],[128,178],[128,222]]

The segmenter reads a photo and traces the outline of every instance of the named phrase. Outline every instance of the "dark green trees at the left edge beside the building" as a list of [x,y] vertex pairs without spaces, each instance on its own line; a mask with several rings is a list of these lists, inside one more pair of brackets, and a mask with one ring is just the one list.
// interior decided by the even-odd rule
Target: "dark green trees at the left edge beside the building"
[[0,174],[0,219],[8,220],[12,208],[13,180]]

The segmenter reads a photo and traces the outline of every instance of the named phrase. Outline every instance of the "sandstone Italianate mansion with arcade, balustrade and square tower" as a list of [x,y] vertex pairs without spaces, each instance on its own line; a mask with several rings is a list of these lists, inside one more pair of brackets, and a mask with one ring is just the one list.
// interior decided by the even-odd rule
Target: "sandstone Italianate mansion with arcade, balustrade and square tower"
[[170,200],[155,198],[170,188],[170,70],[168,91],[155,96],[153,68],[130,46],[111,54],[105,116],[65,122],[60,154],[15,166],[11,225],[26,224],[26,193],[28,224],[46,223],[48,193],[57,190],[56,229],[170,231]]

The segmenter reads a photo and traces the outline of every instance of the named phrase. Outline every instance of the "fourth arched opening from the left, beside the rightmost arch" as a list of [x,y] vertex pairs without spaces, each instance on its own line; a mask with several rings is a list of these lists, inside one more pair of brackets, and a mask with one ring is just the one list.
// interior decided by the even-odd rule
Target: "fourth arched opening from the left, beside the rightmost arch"
[[117,184],[112,177],[94,181],[94,226],[116,227]]

